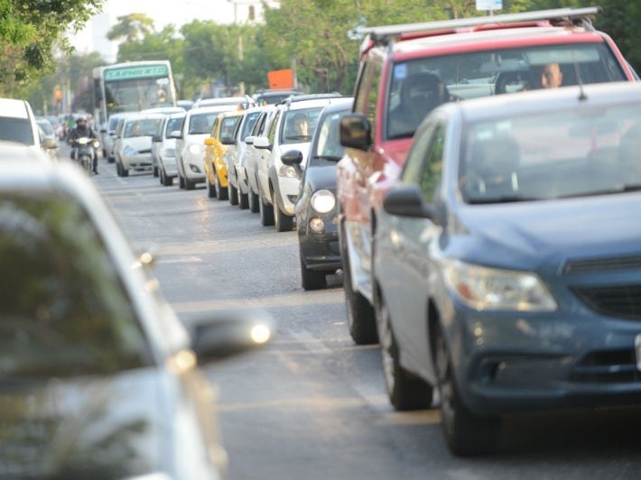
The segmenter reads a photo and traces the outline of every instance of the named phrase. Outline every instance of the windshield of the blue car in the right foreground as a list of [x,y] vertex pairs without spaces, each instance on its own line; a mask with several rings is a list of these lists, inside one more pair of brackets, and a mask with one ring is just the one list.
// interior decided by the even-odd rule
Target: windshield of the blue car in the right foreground
[[641,189],[639,108],[637,102],[514,112],[469,126],[461,147],[462,197],[497,203]]

